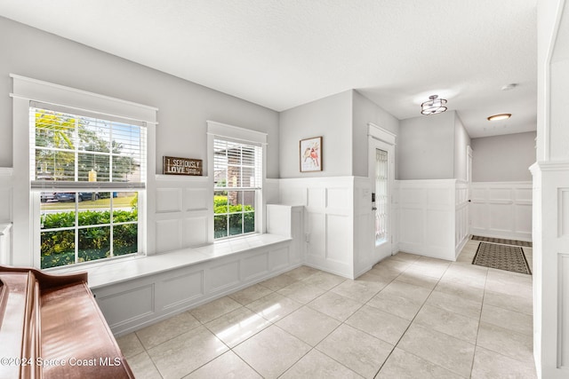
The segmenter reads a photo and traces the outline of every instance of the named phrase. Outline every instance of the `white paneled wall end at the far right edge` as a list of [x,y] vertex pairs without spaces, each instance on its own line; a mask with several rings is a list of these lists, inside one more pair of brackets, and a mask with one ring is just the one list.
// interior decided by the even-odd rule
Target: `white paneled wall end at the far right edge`
[[538,0],[533,174],[533,356],[539,378],[569,377],[569,3]]

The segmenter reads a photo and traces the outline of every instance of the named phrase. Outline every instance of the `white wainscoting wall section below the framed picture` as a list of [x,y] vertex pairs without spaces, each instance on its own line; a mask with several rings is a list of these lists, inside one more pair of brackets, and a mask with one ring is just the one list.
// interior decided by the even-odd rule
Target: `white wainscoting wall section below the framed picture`
[[280,198],[305,206],[305,263],[353,278],[354,178],[281,179]]

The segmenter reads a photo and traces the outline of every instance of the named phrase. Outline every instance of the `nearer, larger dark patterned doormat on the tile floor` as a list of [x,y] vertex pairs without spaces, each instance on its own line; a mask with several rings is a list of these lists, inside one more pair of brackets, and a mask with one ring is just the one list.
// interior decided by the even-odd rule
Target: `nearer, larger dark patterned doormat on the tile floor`
[[480,242],[477,254],[472,260],[472,265],[497,268],[511,272],[532,274],[527,265],[524,250],[517,246],[497,245],[494,243]]

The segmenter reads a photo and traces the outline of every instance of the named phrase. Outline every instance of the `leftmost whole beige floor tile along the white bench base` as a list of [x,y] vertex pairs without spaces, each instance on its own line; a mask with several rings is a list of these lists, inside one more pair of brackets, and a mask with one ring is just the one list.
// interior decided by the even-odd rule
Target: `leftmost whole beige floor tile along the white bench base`
[[199,326],[200,323],[194,316],[188,312],[181,312],[170,319],[137,330],[136,335],[144,347],[150,349]]

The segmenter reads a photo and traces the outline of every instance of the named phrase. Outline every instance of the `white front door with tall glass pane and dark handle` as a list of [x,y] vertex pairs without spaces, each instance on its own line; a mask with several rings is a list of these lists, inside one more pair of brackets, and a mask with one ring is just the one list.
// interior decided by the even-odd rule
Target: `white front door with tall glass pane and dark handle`
[[394,180],[394,146],[369,139],[369,178],[372,180],[373,260],[391,255],[391,198]]

